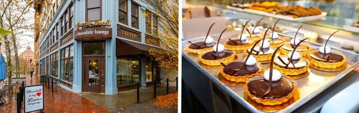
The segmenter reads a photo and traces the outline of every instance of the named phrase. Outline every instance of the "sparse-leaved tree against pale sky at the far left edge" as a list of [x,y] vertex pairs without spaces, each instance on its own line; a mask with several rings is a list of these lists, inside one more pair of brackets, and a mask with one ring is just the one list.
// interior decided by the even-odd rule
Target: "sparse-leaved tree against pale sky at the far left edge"
[[18,42],[19,37],[31,36],[24,34],[33,30],[32,5],[30,0],[0,0],[0,27],[11,33],[2,36],[5,43],[7,75],[11,82],[11,59],[14,57],[16,77],[19,77]]

